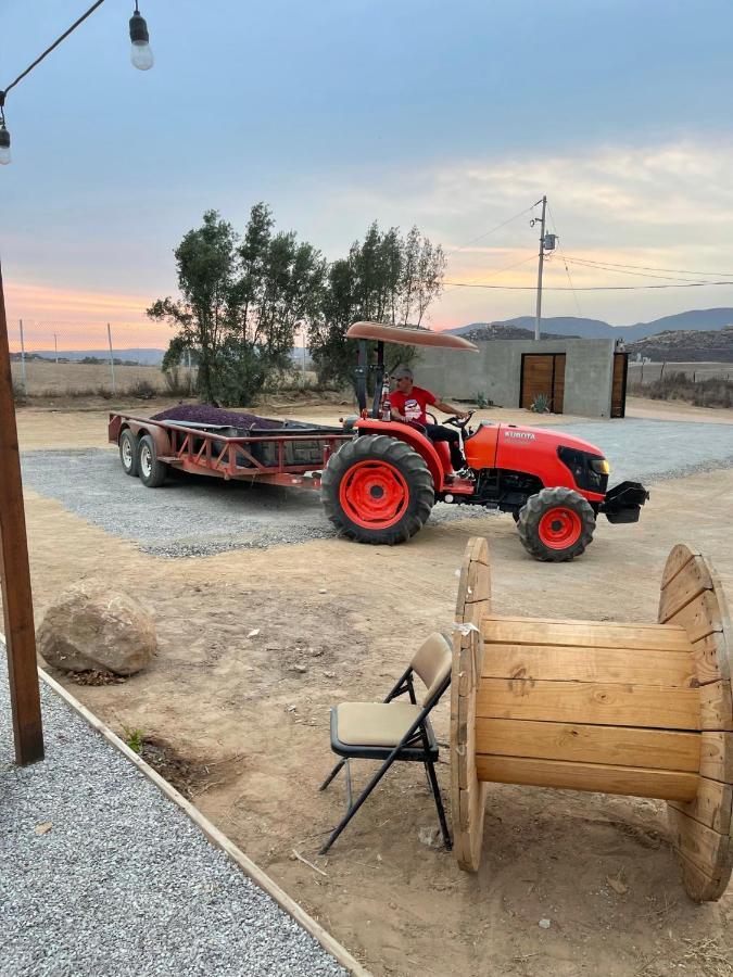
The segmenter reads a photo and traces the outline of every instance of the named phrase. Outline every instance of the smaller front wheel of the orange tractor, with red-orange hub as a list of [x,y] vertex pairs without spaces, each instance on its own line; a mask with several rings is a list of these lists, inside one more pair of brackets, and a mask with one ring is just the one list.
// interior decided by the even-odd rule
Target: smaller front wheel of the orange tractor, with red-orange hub
[[519,510],[519,538],[535,560],[561,563],[580,556],[593,538],[591,504],[571,488],[543,488]]

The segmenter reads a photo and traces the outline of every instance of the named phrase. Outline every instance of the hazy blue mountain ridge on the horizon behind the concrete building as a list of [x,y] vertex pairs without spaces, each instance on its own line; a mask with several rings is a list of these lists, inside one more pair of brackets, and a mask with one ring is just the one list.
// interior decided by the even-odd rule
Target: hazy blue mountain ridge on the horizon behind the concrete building
[[[664,316],[650,322],[636,322],[634,326],[610,326],[602,319],[585,319],[580,316],[548,316],[542,319],[542,334],[548,338],[555,334],[582,339],[622,339],[625,343],[633,343],[659,332],[677,330],[707,332],[724,329],[731,323],[733,323],[733,308],[691,309],[674,316]],[[486,326],[492,328],[511,326],[530,330],[534,335],[534,316],[517,316],[515,319],[502,319],[496,322],[471,322],[468,326],[447,329],[446,332],[466,335]]]

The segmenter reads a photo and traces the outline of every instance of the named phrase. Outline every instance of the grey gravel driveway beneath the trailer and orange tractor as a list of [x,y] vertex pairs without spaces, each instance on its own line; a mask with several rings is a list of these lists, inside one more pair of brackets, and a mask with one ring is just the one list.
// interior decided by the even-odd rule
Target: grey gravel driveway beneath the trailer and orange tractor
[[[733,465],[733,426],[627,419],[555,424],[597,445],[611,484],[662,479]],[[161,556],[205,556],[333,536],[316,492],[179,475],[160,488],[126,477],[112,449],[30,452],[25,483],[108,532]],[[652,503],[653,504],[653,503]],[[486,518],[486,510],[438,504],[430,524]]]

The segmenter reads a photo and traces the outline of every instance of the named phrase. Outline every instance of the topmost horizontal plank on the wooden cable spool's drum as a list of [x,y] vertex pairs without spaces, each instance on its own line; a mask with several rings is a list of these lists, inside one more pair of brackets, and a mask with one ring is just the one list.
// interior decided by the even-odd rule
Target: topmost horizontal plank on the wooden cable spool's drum
[[[488,644],[566,645],[578,648],[635,648],[637,651],[690,651],[690,637],[683,629],[659,624],[572,624],[563,621],[521,621],[486,617],[481,633]],[[699,635],[703,637],[703,635]]]

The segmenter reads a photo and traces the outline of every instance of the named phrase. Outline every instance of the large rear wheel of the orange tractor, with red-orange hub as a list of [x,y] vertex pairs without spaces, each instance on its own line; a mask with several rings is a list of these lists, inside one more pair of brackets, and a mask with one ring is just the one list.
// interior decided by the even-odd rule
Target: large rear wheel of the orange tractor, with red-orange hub
[[422,528],[435,492],[428,466],[409,445],[365,434],[331,455],[320,499],[339,535],[393,546]]

